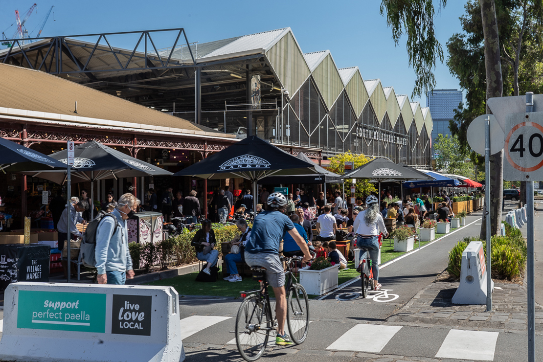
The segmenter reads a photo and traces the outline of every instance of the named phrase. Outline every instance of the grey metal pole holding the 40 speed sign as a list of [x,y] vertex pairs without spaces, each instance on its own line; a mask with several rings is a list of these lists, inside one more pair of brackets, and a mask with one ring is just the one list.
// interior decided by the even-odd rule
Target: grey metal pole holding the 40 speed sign
[[[533,112],[533,92],[526,92],[526,113]],[[535,295],[534,295],[534,182],[526,182],[527,219],[527,284],[528,284],[528,362],[535,361]]]

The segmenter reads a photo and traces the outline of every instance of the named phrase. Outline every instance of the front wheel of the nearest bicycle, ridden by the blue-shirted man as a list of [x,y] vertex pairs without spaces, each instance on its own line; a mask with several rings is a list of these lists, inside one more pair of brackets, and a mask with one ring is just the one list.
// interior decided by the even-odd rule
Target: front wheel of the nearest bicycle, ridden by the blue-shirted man
[[301,284],[293,284],[288,289],[287,326],[294,343],[304,343],[309,331],[309,300]]

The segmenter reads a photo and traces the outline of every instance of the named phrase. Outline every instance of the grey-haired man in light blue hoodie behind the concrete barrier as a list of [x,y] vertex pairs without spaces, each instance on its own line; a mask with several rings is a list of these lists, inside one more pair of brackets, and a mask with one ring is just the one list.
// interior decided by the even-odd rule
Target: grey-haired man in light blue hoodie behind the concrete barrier
[[128,249],[127,220],[135,219],[140,205],[136,196],[126,193],[119,198],[117,208],[104,217],[96,229],[96,270],[98,284],[123,285],[134,278],[132,258]]

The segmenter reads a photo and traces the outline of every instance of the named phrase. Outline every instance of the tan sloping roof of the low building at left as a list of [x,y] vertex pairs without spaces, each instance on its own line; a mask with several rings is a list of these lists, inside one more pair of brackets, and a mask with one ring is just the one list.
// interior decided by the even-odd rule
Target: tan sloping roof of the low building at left
[[[10,110],[46,112],[105,119],[119,124],[200,131],[188,120],[149,109],[52,74],[0,63],[0,79],[2,79],[0,107],[7,109],[8,113],[13,113]],[[75,101],[77,113],[74,113]],[[28,116],[27,113],[21,115]]]

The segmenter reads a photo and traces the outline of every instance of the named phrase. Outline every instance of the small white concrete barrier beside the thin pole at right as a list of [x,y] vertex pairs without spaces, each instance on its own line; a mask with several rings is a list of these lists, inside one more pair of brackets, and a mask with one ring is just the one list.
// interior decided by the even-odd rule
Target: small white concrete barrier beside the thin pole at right
[[[492,282],[490,290],[494,290]],[[462,252],[460,285],[452,297],[453,304],[487,304],[487,265],[483,242],[471,242]]]

